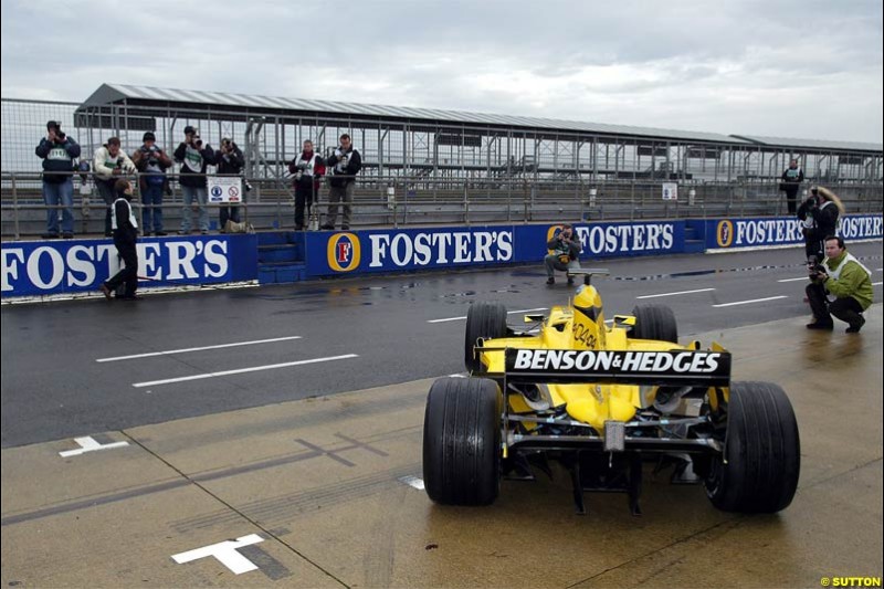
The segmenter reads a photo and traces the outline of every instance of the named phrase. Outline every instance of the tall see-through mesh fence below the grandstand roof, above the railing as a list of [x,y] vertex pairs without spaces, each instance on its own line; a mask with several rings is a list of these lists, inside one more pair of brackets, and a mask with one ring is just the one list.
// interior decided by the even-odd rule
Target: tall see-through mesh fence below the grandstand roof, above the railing
[[[80,109],[77,112],[77,109]],[[286,162],[304,139],[317,150],[352,136],[364,160],[364,177],[418,177],[433,180],[642,180],[734,182],[778,178],[791,158],[821,183],[881,181],[884,156],[838,149],[766,147],[751,144],[642,138],[591,133],[499,128],[443,123],[404,123],[348,118],[334,113],[302,117],[280,112],[252,115],[225,107],[147,107],[40,101],[2,101],[2,171],[33,171],[33,154],[45,123],[59,120],[88,159],[110,136],[131,152],[152,130],[164,149],[173,150],[186,125],[200,127],[204,140],[238,141],[250,177],[282,180]],[[736,141],[736,139],[735,139]]]

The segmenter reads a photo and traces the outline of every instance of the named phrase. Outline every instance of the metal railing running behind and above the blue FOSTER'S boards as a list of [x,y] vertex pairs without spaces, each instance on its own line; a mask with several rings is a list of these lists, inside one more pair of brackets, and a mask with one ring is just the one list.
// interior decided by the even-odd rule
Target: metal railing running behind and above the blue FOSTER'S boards
[[[106,206],[95,189],[92,173],[71,173],[74,181],[74,220],[81,234],[103,233]],[[169,192],[160,207],[167,228],[177,229],[183,207],[179,180],[169,173]],[[126,177],[135,180],[136,176]],[[240,203],[212,203],[210,215],[220,207],[242,208],[242,220],[257,230],[294,228],[294,191],[290,179],[249,178],[251,192]],[[569,179],[526,180],[515,178],[445,179],[422,177],[356,178],[354,227],[410,227],[424,224],[529,223],[538,221],[610,221],[642,219],[704,219],[727,215],[768,217],[786,213],[785,193],[778,180],[746,179],[735,182],[684,181],[677,183],[677,199],[664,200],[664,180]],[[808,188],[812,182],[804,182]],[[133,204],[138,219],[141,204],[138,182]],[[848,212],[884,210],[882,182],[842,182],[832,186]],[[799,194],[799,199],[800,199]],[[2,236],[20,239],[45,231],[48,206],[39,172],[0,175]],[[313,204],[319,224],[327,210],[328,185],[324,180]],[[56,210],[63,206],[52,207]],[[212,219],[212,229],[217,227]],[[170,231],[171,232],[171,231]]]

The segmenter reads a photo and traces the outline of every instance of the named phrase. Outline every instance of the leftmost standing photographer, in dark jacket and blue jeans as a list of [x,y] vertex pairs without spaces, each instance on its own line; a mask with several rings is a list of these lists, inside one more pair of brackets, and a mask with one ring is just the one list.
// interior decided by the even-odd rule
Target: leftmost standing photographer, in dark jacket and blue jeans
[[43,160],[43,202],[46,204],[44,240],[59,238],[59,210],[62,209],[62,236],[74,236],[74,159],[80,157],[77,143],[62,132],[55,120],[46,123],[46,136],[34,152]]

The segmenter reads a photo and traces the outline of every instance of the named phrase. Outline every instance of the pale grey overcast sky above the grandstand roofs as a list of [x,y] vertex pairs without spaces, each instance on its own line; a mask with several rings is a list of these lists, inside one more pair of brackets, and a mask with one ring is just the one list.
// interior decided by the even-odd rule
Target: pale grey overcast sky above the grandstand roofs
[[882,143],[882,1],[2,0],[2,96],[102,83]]

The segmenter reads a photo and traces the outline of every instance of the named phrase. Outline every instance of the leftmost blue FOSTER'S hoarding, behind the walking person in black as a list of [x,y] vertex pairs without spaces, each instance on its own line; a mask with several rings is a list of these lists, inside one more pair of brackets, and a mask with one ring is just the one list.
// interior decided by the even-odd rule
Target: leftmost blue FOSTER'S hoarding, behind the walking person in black
[[[138,241],[145,286],[218,284],[257,277],[257,236],[200,235]],[[3,243],[2,295],[41,296],[97,291],[120,267],[110,240]]]

